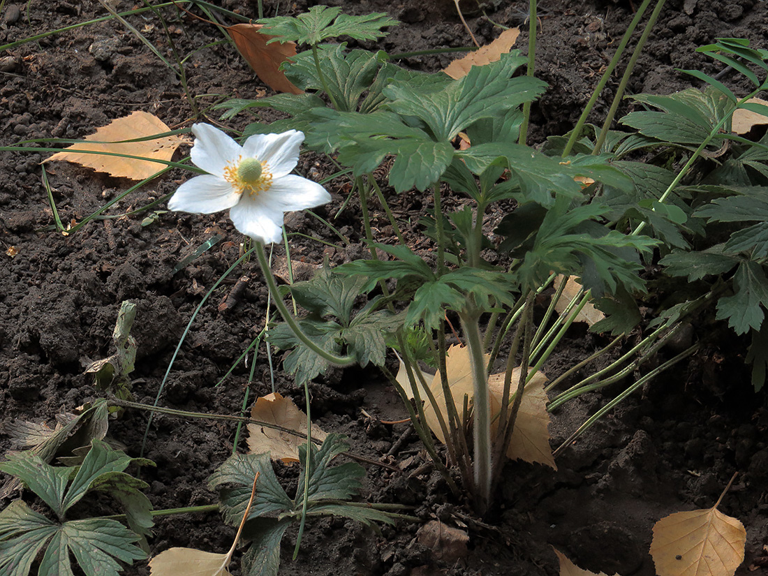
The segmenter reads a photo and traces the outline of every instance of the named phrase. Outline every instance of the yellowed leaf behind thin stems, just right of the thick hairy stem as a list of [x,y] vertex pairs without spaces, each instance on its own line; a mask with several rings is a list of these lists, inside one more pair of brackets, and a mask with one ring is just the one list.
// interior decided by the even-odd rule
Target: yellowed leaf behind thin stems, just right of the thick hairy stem
[[[488,388],[495,397],[500,411],[504,396],[504,374],[493,374],[488,378]],[[520,368],[512,370],[511,393],[517,388],[520,379]],[[538,462],[555,470],[558,466],[554,463],[554,456],[549,445],[549,412],[547,412],[547,392],[544,385],[547,377],[537,372],[531,381],[525,385],[523,398],[520,402],[515,429],[507,446],[507,457],[512,460],[525,460],[525,462]],[[511,409],[511,407],[510,407]],[[496,412],[494,412],[495,416]]]

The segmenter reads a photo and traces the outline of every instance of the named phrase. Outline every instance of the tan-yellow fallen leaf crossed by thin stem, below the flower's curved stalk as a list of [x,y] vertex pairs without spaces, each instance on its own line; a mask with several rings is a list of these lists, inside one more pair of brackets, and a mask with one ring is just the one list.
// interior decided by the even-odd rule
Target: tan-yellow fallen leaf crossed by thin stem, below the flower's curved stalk
[[[273,392],[257,399],[250,411],[250,417],[262,422],[270,422],[283,428],[306,434],[306,414],[302,412],[293,400],[283,398],[278,392]],[[312,427],[313,439],[325,440],[326,433],[319,427]],[[248,425],[248,452],[263,454],[270,452],[273,460],[282,460],[286,464],[299,462],[299,446],[306,443],[301,436],[283,432],[263,425]]]

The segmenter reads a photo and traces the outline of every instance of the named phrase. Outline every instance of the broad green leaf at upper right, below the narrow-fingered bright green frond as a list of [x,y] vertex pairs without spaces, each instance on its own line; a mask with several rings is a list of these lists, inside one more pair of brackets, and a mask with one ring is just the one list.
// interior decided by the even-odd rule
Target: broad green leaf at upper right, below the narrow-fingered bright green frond
[[670,144],[701,144],[726,114],[729,105],[728,98],[712,88],[703,92],[688,88],[669,96],[638,94],[632,98],[661,111],[630,112],[621,122],[636,128],[644,136]]

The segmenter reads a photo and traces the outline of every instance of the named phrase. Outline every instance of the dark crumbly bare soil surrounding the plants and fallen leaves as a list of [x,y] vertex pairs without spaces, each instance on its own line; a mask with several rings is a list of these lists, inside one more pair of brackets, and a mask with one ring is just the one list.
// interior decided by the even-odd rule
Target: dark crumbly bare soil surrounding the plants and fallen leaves
[[[118,10],[131,8],[126,2],[113,4]],[[256,9],[255,2],[243,0],[223,0],[223,4],[251,16]],[[306,4],[306,0],[280,2],[279,10],[284,14],[289,7],[293,13],[305,10]],[[402,21],[380,44],[390,53],[468,45],[450,0],[348,4],[344,8],[352,12],[386,11]],[[632,2],[624,0],[540,4],[537,75],[550,89],[534,108],[531,134],[539,142],[574,124],[634,9]],[[266,2],[266,13],[270,15],[277,5]],[[512,26],[522,25],[527,18],[521,12],[525,5],[488,2],[484,8],[495,22]],[[495,37],[482,14],[465,9],[480,41]],[[91,0],[6,4],[0,43],[104,13]],[[218,114],[210,111],[211,105],[232,95],[252,98],[263,90],[231,45],[210,46],[221,38],[217,28],[175,10],[162,14],[177,51],[189,57],[185,71],[190,94],[212,121]],[[173,58],[157,16],[146,13],[132,17],[131,22],[163,55]],[[666,94],[689,87],[690,77],[676,68],[717,73],[719,64],[694,51],[716,37],[750,38],[753,45],[766,48],[768,7],[758,0],[670,0],[629,91]],[[518,45],[525,50],[525,33]],[[4,145],[20,139],[83,137],[94,127],[135,110],[157,114],[173,128],[189,126],[194,120],[174,71],[114,20],[43,38],[0,58]],[[424,56],[402,64],[432,70],[446,65],[449,58]],[[598,101],[594,121],[607,111],[615,86],[616,82],[609,84]],[[746,91],[738,83],[731,87],[737,93]],[[242,128],[247,121],[238,117],[227,127]],[[154,402],[184,327],[207,290],[237,260],[242,240],[226,214],[164,213],[148,226],[142,226],[147,214],[139,214],[93,222],[69,236],[50,231],[54,220],[40,165],[46,156],[0,155],[0,422],[4,423],[15,419],[52,423],[59,412],[73,411],[99,396],[84,368],[110,353],[114,320],[127,299],[138,305],[133,330],[138,341],[134,396],[139,402]],[[81,220],[130,186],[126,180],[74,164],[46,164],[46,170],[65,223]],[[331,174],[333,167],[306,157],[298,170],[319,179]],[[172,172],[122,200],[110,214],[169,194],[186,177]],[[320,216],[336,214],[346,196],[343,184],[341,179],[329,184],[334,200],[316,210]],[[414,223],[431,204],[415,192],[399,197],[389,194],[397,214]],[[452,201],[448,200],[449,206]],[[291,256],[308,265],[321,263],[325,256],[332,263],[362,256],[358,214],[359,207],[351,205],[334,222],[352,241],[351,247],[326,247],[293,236]],[[374,217],[378,219],[379,214]],[[380,220],[379,229],[386,230],[386,220]],[[286,227],[338,242],[306,214],[290,215]],[[174,273],[180,260],[214,234],[223,240]],[[14,257],[6,253],[12,247]],[[278,259],[283,257],[280,247],[275,247],[275,253]],[[220,312],[218,304],[240,276],[250,279],[247,290],[237,306]],[[219,386],[217,382],[263,327],[266,302],[256,263],[239,266],[192,323],[170,370],[161,405],[239,414],[250,363],[238,366]],[[290,561],[296,535],[286,536],[280,574],[556,574],[557,561],[550,548],[554,545],[581,568],[622,576],[651,575],[655,572],[648,547],[654,522],[675,511],[710,507],[733,472],[740,475],[720,510],[746,526],[746,559],[737,574],[768,573],[768,553],[763,549],[768,542],[766,396],[751,391],[742,364],[745,343],[734,342],[726,331],[722,335],[718,339],[717,333],[694,334],[708,337],[704,351],[628,399],[565,450],[558,459],[558,472],[522,463],[508,465],[498,509],[485,522],[475,518],[465,502],[452,499],[439,475],[422,466],[426,458],[415,435],[399,442],[407,425],[379,422],[400,419],[405,410],[376,371],[337,371],[319,379],[312,387],[316,422],[326,431],[347,435],[353,452],[404,468],[395,474],[368,466],[362,497],[414,506],[413,513],[423,521],[440,518],[450,525],[466,525],[470,551],[466,558],[445,565],[416,541],[419,524],[403,522],[377,533],[352,521],[329,519],[310,525],[296,561]],[[557,376],[606,342],[575,329],[563,352],[545,367],[548,375]],[[303,392],[280,370],[279,357],[276,361],[276,389],[303,407]],[[251,399],[271,391],[263,348],[255,362]],[[554,415],[552,444],[559,445],[621,389],[594,393]],[[147,416],[147,412],[127,410],[111,423],[111,436],[126,445],[131,455],[138,455],[141,448]],[[157,462],[157,468],[144,468],[141,474],[150,485],[147,492],[155,508],[216,502],[206,480],[232,453],[234,437],[235,425],[229,423],[154,417],[145,455]],[[238,448],[245,449],[240,438]],[[0,435],[0,452],[9,447],[9,437]],[[279,472],[289,482],[295,476],[283,469]],[[153,553],[172,546],[224,551],[232,537],[233,530],[218,515],[187,515],[158,519],[150,545]],[[146,564],[137,563],[126,574],[147,574]]]

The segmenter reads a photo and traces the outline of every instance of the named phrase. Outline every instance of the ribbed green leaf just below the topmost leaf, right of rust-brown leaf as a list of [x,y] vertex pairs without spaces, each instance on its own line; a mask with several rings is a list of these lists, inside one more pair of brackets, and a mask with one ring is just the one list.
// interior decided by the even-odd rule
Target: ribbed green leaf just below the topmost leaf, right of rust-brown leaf
[[[317,77],[312,51],[302,52],[286,63],[286,76],[302,90],[324,91],[327,88],[340,111],[355,111],[362,93],[368,90],[381,64],[378,55],[367,50],[345,52],[345,45],[318,47],[320,71],[326,80]],[[320,104],[325,106],[325,104]],[[313,106],[315,108],[315,106]],[[306,108],[305,108],[306,110]]]

